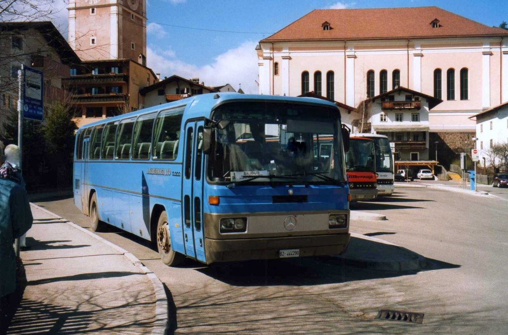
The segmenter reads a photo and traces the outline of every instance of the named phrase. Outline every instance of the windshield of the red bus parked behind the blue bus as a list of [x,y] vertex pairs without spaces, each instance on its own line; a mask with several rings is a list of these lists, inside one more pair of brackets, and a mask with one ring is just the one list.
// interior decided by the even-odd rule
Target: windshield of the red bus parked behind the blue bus
[[350,138],[350,150],[346,154],[348,172],[375,172],[374,142],[369,139]]

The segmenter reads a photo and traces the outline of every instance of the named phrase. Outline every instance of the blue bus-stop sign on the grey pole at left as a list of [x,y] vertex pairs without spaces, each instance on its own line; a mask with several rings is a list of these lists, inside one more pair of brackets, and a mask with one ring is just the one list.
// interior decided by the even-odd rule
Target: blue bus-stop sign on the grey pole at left
[[23,118],[42,121],[44,85],[42,71],[23,66]]

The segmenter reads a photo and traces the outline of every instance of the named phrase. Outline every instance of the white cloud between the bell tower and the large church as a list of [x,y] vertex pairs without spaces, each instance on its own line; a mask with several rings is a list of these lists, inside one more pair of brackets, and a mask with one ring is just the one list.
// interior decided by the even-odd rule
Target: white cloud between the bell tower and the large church
[[231,84],[238,90],[241,84],[245,93],[258,93],[258,56],[256,41],[243,42],[237,48],[229,49],[204,66],[197,66],[178,59],[173,50],[155,46],[147,48],[147,65],[161,77],[178,75],[183,78],[199,77],[206,86]]

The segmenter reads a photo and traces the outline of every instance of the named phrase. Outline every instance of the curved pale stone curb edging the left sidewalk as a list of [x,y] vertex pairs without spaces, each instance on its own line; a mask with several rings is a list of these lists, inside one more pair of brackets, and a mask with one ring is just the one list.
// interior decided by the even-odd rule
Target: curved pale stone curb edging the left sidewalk
[[99,235],[96,235],[95,233],[91,232],[88,229],[85,229],[79,225],[77,225],[74,222],[68,221],[66,219],[61,218],[59,215],[56,215],[53,212],[48,211],[45,208],[42,208],[40,206],[35,205],[34,203],[30,203],[30,206],[33,206],[37,208],[38,210],[41,210],[49,215],[52,215],[56,218],[56,220],[59,220],[63,223],[67,223],[73,228],[76,228],[87,235],[91,236],[92,238],[101,241],[102,243],[110,246],[111,248],[117,250],[120,252],[123,256],[128,258],[135,266],[140,267],[141,271],[144,272],[144,274],[150,279],[150,282],[153,285],[153,290],[155,292],[155,321],[153,322],[153,328],[152,328],[152,334],[167,334],[169,329],[169,320],[168,320],[168,297],[166,296],[166,291],[164,290],[164,286],[161,282],[161,280],[155,275],[153,272],[151,272],[148,267],[144,266],[143,263],[132,253],[129,251],[120,248],[119,246],[105,240],[104,238],[100,237]]

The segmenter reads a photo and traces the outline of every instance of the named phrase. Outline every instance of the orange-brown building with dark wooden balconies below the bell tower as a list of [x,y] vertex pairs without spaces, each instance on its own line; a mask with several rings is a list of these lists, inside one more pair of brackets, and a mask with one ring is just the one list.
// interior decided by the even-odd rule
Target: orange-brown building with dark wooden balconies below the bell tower
[[71,92],[78,127],[144,107],[140,89],[153,85],[153,71],[132,59],[83,61],[63,79]]

